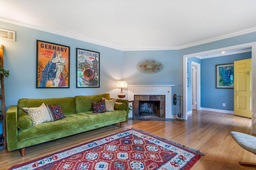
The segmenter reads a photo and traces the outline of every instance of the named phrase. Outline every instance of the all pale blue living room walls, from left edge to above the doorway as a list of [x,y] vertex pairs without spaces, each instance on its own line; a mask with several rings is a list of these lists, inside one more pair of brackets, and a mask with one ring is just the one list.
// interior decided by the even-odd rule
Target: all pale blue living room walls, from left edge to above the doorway
[[[180,50],[121,51],[2,21],[0,27],[16,31],[16,41],[2,40],[4,68],[10,70],[10,76],[4,80],[7,106],[16,105],[20,98],[58,98],[100,93],[117,97],[120,93],[120,89],[116,88],[118,80],[125,80],[128,84],[174,84],[172,94],[182,94],[183,55],[256,41],[254,32]],[[36,88],[36,39],[70,46],[70,88]],[[100,88],[76,88],[76,48],[100,52]],[[164,63],[164,69],[156,74],[139,72],[136,64],[150,58]]]

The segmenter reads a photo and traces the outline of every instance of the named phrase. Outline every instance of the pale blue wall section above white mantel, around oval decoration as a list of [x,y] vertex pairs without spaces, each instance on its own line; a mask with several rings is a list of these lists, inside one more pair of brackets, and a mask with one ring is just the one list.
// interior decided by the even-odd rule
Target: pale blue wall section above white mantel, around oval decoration
[[[164,64],[162,71],[155,74],[145,74],[137,70],[136,64],[145,59],[156,59]],[[178,94],[178,50],[158,51],[124,51],[124,80],[129,84],[164,85],[171,84],[173,94]],[[172,101],[171,100],[171,101]],[[172,105],[172,102],[170,103]],[[176,113],[172,107],[172,115]]]

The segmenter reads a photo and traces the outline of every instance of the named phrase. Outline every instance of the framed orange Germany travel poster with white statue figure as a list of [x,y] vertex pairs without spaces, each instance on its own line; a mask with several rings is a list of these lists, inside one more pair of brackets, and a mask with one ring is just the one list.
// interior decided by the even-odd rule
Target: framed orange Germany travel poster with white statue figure
[[69,88],[70,47],[36,40],[36,88]]

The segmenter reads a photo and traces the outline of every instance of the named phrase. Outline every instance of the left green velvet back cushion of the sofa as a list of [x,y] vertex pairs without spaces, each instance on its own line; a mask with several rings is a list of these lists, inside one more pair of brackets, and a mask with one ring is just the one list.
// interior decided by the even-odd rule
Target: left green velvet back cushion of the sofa
[[38,107],[42,103],[56,105],[59,104],[64,115],[76,113],[76,104],[73,97],[49,98],[49,99],[20,99],[18,100],[18,114],[26,113],[22,107]]

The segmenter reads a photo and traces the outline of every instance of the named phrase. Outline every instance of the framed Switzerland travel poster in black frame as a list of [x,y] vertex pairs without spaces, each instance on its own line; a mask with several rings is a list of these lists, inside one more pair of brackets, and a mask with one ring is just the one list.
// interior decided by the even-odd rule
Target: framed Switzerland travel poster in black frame
[[100,53],[76,48],[76,88],[100,87]]

